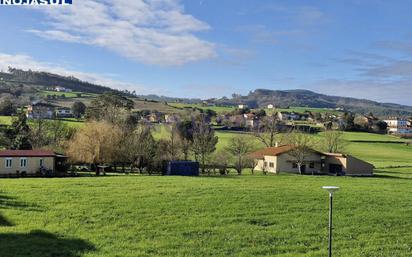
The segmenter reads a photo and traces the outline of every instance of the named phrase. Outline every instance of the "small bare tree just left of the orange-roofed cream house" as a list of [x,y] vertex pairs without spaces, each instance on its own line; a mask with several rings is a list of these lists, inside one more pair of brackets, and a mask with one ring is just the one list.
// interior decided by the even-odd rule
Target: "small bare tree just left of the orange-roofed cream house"
[[235,169],[238,175],[241,175],[246,165],[246,155],[252,150],[252,144],[244,137],[234,137],[226,150],[235,157]]

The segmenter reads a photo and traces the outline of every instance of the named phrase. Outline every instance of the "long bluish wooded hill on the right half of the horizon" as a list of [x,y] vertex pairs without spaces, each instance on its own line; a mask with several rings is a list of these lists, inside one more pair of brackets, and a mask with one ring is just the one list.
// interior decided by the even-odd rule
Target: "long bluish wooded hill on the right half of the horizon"
[[290,106],[312,108],[343,108],[345,110],[367,114],[372,112],[379,116],[412,115],[412,107],[392,103],[378,103],[371,100],[350,97],[329,96],[309,90],[268,90],[256,89],[246,96],[235,95],[233,98],[221,98],[217,104],[236,105],[247,104],[251,108],[263,108],[273,104],[278,108]]

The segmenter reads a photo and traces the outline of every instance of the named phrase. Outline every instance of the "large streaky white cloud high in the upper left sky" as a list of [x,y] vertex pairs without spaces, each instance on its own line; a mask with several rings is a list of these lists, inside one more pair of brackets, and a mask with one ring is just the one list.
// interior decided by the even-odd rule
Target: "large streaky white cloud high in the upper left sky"
[[185,14],[179,0],[82,0],[37,10],[45,12],[49,28],[28,31],[47,39],[99,46],[164,66],[217,56],[213,43],[194,34],[209,25]]

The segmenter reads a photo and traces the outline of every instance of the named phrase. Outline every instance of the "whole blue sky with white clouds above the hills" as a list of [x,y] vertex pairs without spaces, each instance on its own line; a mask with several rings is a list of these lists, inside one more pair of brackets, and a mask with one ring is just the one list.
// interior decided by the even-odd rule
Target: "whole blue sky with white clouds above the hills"
[[412,105],[410,1],[0,6],[0,68],[178,97],[309,89]]

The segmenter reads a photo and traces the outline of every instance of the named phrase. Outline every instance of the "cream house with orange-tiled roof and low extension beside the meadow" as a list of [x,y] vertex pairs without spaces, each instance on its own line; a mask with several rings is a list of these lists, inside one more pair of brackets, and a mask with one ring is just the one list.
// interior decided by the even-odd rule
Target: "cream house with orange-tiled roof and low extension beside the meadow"
[[[271,173],[298,173],[298,165],[288,153],[294,149],[292,145],[269,147],[254,152],[255,170]],[[305,158],[301,170],[305,174],[329,174],[348,176],[372,176],[374,166],[351,155],[322,153],[311,150]]]

